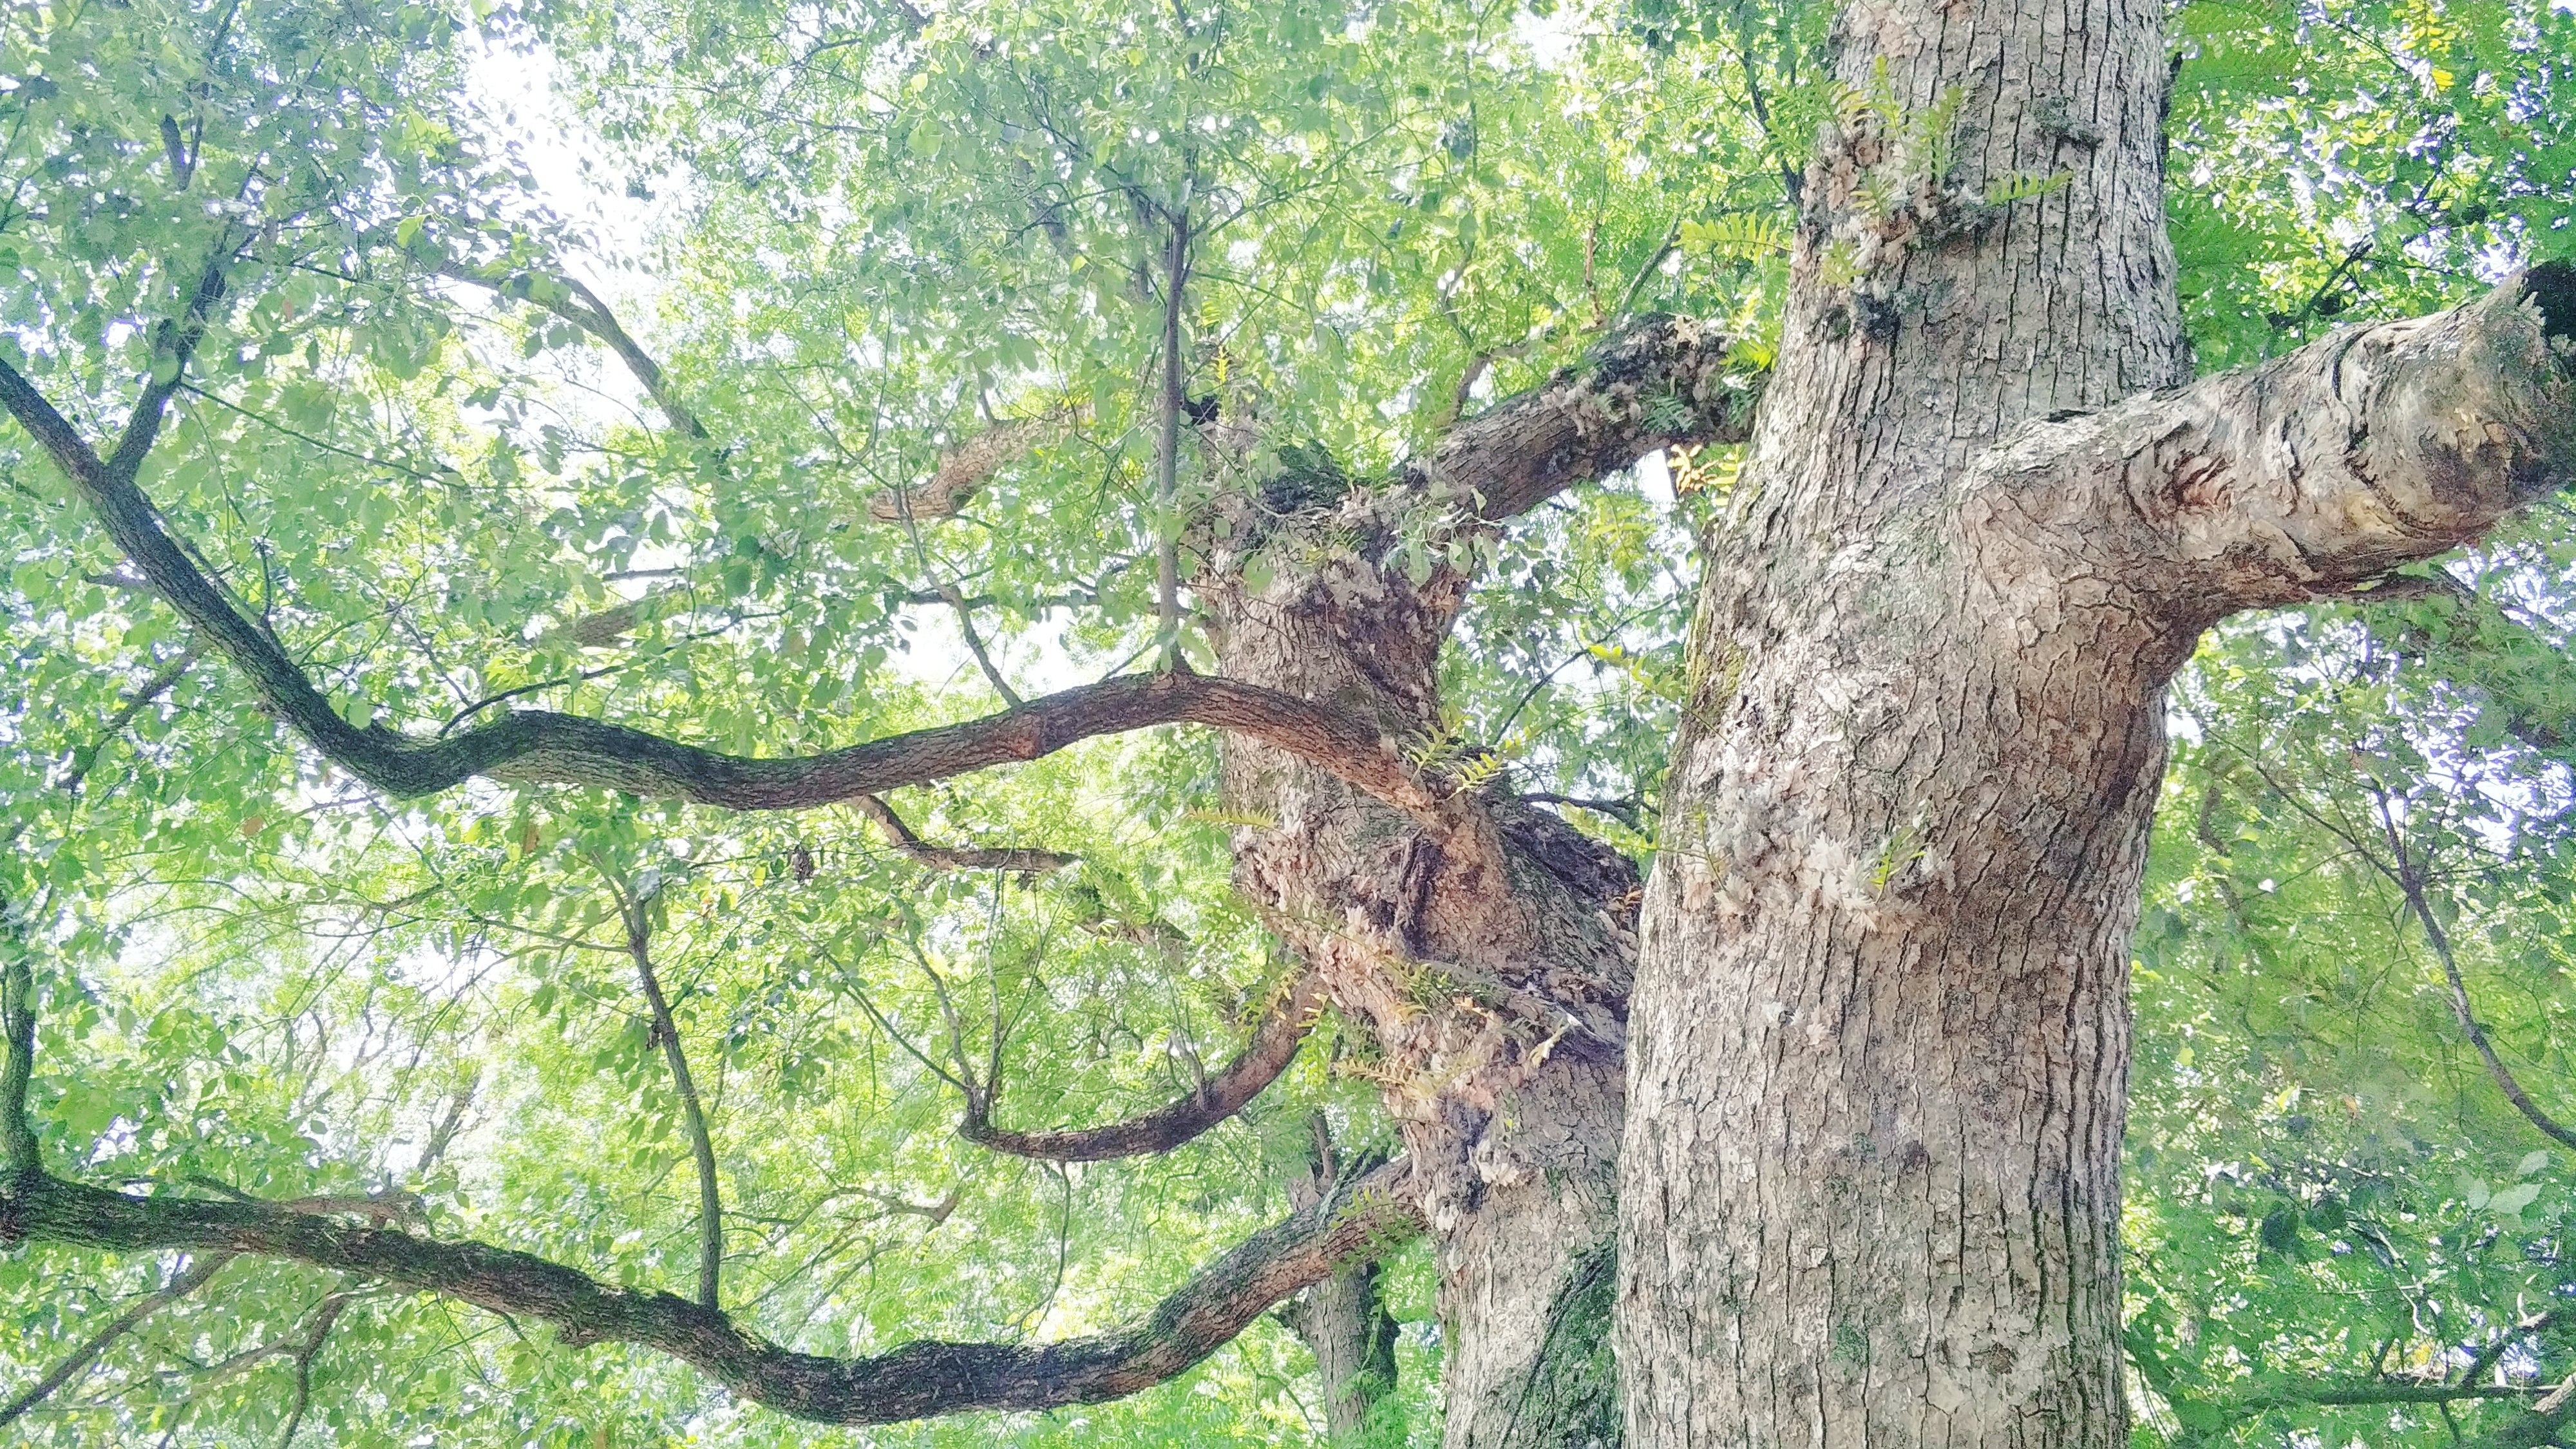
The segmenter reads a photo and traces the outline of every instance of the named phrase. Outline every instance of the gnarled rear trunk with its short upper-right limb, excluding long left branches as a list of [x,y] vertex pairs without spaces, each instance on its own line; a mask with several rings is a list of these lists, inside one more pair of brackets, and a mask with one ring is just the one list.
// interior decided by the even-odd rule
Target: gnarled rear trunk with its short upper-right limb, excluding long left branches
[[[1468,580],[1448,565],[1406,580],[1391,547],[1404,511],[1497,526],[1656,446],[1741,438],[1757,387],[1726,364],[1723,335],[1646,320],[1455,428],[1391,490],[1231,500],[1195,583],[1224,673],[1394,740],[1430,737]],[[1252,549],[1303,562],[1249,590]],[[1633,866],[1510,797],[1391,810],[1239,735],[1224,771],[1229,807],[1260,820],[1236,830],[1236,884],[1378,1052],[1358,1070],[1383,1088],[1440,1250],[1445,1441],[1615,1444],[1607,1261]]]

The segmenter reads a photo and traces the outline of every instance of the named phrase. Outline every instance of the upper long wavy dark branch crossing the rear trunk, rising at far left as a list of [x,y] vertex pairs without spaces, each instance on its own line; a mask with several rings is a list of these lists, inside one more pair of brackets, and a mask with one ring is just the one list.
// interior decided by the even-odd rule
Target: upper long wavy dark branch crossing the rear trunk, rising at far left
[[[528,709],[443,740],[350,724],[304,670],[160,526],[131,464],[100,462],[80,433],[0,361],[5,405],[108,526],[144,580],[242,670],[260,704],[325,758],[397,797],[433,794],[471,776],[515,784],[587,784],[729,810],[804,810],[987,766],[1036,761],[1092,735],[1151,724],[1211,724],[1298,755],[1396,804],[1430,815],[1437,797],[1404,766],[1391,737],[1319,704],[1190,673],[1126,676],[1033,699],[1018,709],[793,758],[724,755],[623,724]],[[137,420],[142,428],[144,420]],[[131,436],[131,433],[129,433]]]

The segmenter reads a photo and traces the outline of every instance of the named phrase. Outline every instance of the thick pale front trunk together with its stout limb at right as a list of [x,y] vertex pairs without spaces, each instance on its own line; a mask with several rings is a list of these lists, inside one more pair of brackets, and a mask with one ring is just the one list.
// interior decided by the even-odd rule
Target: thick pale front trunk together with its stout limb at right
[[2223,614],[2447,549],[2576,456],[2555,273],[2177,389],[2161,13],[1837,23],[1878,106],[1808,170],[1641,920],[1636,1449],[2125,1444],[2161,686]]

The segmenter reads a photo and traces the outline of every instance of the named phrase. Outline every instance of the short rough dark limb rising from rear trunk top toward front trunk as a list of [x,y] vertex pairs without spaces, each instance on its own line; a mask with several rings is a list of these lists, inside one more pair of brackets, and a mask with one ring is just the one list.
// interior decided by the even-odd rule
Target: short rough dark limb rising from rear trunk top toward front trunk
[[1427,482],[1476,495],[1502,521],[1669,446],[1741,443],[1767,374],[1736,338],[1687,317],[1641,317],[1574,366],[1458,423]]

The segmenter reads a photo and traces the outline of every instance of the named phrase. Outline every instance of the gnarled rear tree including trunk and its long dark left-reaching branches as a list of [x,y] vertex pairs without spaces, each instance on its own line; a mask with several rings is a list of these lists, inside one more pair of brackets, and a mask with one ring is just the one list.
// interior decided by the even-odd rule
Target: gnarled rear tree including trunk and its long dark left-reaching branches
[[[227,260],[209,263],[188,315],[160,333],[180,374],[224,299]],[[1399,745],[1437,722],[1435,660],[1468,580],[1440,565],[1406,583],[1388,567],[1391,544],[1414,513],[1463,541],[1463,531],[1494,529],[1656,446],[1739,441],[1759,387],[1762,374],[1736,364],[1713,327],[1641,320],[1543,387],[1461,423],[1388,487],[1296,500],[1285,508],[1293,516],[1278,498],[1229,498],[1229,541],[1200,559],[1200,603],[1231,678],[1115,678],[824,755],[737,758],[549,712],[502,714],[448,737],[348,724],[137,487],[178,384],[147,387],[116,451],[100,459],[0,364],[0,407],[62,467],[149,590],[270,714],[389,794],[487,776],[796,810],[1030,761],[1115,730],[1224,730],[1236,743],[1229,797],[1273,817],[1239,835],[1236,874],[1316,964],[1332,1003],[1376,1039],[1381,1057],[1365,1070],[1430,1163],[1329,1220],[1298,1214],[1257,1235],[1128,1330],[1036,1348],[914,1343],[881,1359],[791,1354],[703,1305],[608,1289],[526,1253],[381,1225],[348,1230],[276,1204],[131,1199],[33,1168],[0,1194],[0,1238],[299,1258],[551,1320],[574,1343],[644,1343],[786,1413],[873,1423],[1092,1403],[1162,1382],[1280,1294],[1430,1217],[1443,1235],[1450,1328],[1448,1441],[1610,1441],[1597,1287],[1610,1261],[1636,877],[1561,820],[1517,799],[1479,799],[1404,761]],[[1244,590],[1247,547],[1298,529],[1340,536],[1337,523],[1355,529],[1358,552]],[[23,1044],[10,1052],[0,1085],[23,1091],[26,1057]],[[15,1137],[0,1145],[15,1155]]]

